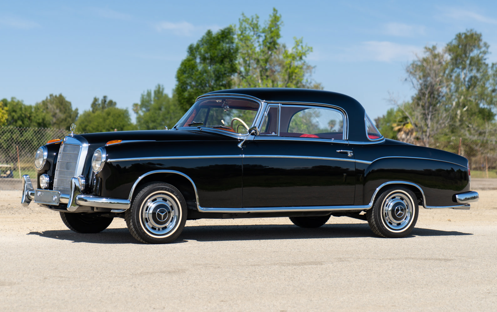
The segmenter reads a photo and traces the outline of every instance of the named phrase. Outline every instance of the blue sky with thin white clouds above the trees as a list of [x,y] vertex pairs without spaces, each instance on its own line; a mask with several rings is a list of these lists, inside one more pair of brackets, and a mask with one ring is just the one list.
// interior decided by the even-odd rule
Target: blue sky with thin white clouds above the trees
[[326,90],[350,95],[375,118],[407,100],[405,67],[426,45],[456,33],[483,34],[497,62],[497,1],[1,1],[0,98],[35,104],[62,93],[89,109],[107,95],[130,109],[147,89],[170,94],[186,48],[207,29],[237,24],[242,12],[282,15],[282,42],[303,37]]

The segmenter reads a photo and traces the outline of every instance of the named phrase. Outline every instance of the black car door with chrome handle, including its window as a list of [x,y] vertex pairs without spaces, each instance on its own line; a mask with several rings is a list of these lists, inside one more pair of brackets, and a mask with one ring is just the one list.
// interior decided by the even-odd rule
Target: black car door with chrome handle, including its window
[[354,204],[355,161],[344,115],[320,106],[269,106],[243,147],[243,207]]

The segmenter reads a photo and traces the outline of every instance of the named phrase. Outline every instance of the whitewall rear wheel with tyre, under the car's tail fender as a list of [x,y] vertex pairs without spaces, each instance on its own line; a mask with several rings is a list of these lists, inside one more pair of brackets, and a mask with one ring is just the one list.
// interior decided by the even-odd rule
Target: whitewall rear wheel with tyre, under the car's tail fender
[[404,187],[389,188],[375,200],[366,217],[371,230],[382,237],[405,237],[413,231],[418,214],[417,198]]

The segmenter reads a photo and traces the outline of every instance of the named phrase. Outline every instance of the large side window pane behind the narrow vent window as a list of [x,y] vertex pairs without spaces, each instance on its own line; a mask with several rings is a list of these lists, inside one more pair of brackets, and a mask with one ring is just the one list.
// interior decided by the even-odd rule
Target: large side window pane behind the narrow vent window
[[322,107],[282,106],[281,137],[343,139],[343,114]]

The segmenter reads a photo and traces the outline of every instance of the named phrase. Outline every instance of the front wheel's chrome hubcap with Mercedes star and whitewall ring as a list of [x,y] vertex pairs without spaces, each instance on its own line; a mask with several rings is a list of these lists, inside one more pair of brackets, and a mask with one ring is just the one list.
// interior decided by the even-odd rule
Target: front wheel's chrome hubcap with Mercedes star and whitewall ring
[[164,237],[178,226],[181,209],[179,201],[166,191],[152,193],[142,206],[140,223],[154,237]]

